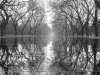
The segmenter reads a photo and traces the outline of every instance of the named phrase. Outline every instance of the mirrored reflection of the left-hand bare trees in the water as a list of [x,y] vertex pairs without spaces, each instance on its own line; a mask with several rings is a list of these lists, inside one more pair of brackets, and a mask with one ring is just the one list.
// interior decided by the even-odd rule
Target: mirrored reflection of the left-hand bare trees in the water
[[3,69],[5,75],[20,75],[24,74],[23,71],[38,70],[43,60],[40,46],[35,44],[32,38],[29,38],[30,41],[13,39],[12,47],[6,45],[5,39],[0,41],[0,68]]

